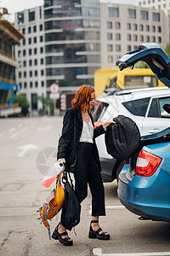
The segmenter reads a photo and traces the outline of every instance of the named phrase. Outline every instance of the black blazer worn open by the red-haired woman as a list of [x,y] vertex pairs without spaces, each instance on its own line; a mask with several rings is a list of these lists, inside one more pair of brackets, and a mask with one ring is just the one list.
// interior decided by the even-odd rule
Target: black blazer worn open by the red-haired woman
[[[94,120],[90,113],[90,118],[94,125]],[[98,148],[95,143],[95,138],[105,133],[103,125],[94,129],[94,143],[93,155],[96,160],[99,170],[101,171],[99,163]],[[80,109],[70,108],[66,110],[63,120],[62,135],[59,138],[57,159],[65,158],[68,172],[74,172],[77,164],[77,147],[82,135],[82,113]]]

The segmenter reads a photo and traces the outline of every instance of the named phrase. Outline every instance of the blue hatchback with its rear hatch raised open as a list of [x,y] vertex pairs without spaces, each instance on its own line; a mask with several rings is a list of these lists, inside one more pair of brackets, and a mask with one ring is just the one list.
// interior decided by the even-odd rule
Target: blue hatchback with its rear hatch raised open
[[[156,77],[170,87],[170,59],[157,44],[139,45],[117,61],[122,70],[145,61]],[[163,106],[170,113],[170,105]],[[140,216],[170,222],[170,127],[141,137],[137,151],[119,175],[118,198]]]

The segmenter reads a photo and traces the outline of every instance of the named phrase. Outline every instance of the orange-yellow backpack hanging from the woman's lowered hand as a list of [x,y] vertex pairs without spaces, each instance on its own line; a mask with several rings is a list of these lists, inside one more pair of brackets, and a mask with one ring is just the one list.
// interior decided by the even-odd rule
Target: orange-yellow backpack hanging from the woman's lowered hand
[[[65,169],[64,169],[65,170]],[[56,188],[48,195],[46,200],[44,201],[42,207],[39,208],[37,212],[40,212],[40,217],[44,226],[48,229],[48,236],[51,239],[50,234],[50,225],[48,224],[48,219],[54,218],[54,216],[60,211],[63,207],[63,203],[65,201],[65,189],[61,185],[61,177],[62,173],[59,173],[56,181]]]

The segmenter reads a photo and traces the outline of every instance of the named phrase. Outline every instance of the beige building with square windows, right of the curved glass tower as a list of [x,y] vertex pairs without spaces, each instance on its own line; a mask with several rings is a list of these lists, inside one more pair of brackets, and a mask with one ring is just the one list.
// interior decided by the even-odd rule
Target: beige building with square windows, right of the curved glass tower
[[[139,44],[165,47],[169,40],[164,11],[135,5],[100,3],[101,67],[113,67]],[[122,18],[123,17],[123,18]]]

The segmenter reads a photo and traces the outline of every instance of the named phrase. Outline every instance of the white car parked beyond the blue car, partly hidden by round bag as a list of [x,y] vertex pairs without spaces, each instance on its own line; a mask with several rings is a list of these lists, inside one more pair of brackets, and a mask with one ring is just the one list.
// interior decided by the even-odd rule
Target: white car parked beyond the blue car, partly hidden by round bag
[[[98,98],[98,106],[93,116],[95,125],[122,114],[139,126],[141,135],[152,134],[170,126],[170,114],[163,109],[170,103],[170,90],[165,87],[153,87],[136,90],[122,90],[114,95],[103,94]],[[105,135],[96,139],[104,182],[112,182],[122,170],[124,161],[114,159],[105,148]]]

